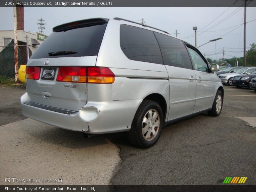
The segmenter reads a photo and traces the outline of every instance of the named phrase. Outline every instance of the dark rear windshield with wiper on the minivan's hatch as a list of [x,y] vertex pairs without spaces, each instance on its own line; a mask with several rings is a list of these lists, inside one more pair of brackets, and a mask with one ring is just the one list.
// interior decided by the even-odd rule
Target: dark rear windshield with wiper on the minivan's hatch
[[98,55],[107,23],[53,32],[30,59]]

